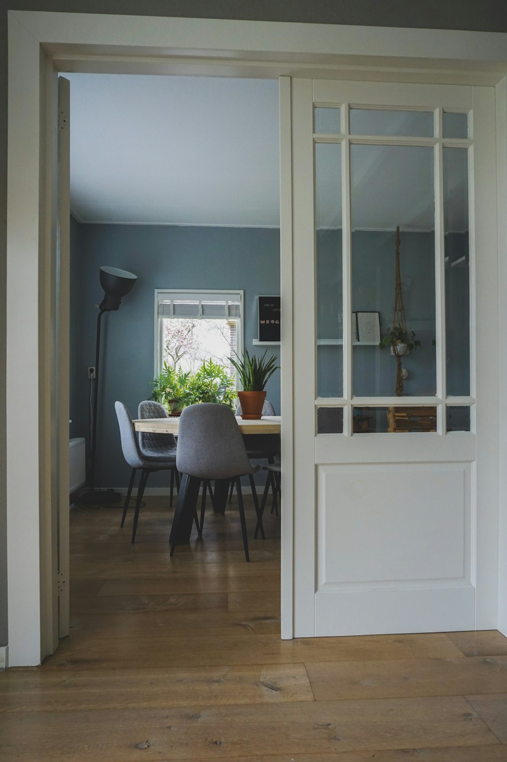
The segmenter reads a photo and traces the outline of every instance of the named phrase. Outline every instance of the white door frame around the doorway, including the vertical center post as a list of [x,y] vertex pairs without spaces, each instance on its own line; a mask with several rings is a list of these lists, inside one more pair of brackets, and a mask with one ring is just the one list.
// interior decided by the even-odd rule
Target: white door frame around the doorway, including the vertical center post
[[[340,55],[336,54],[340,50]],[[470,59],[470,51],[474,58]],[[7,524],[11,666],[54,651],[56,522],[47,455],[53,383],[47,347],[55,245],[58,72],[221,75],[280,80],[282,468],[297,467],[292,434],[292,148],[290,78],[490,85],[497,94],[499,288],[507,286],[507,34],[261,21],[8,12]],[[21,276],[21,277],[20,277]],[[501,299],[500,324],[507,319]],[[33,327],[37,326],[37,330]],[[500,350],[500,346],[499,346]],[[502,360],[500,388],[507,382]],[[29,358],[29,361],[27,361]],[[30,373],[27,370],[30,369]],[[30,400],[30,405],[27,405]],[[507,424],[507,395],[499,409]],[[35,436],[33,436],[35,434]],[[30,436],[31,435],[31,436]],[[313,443],[312,443],[313,447]],[[304,447],[303,447],[304,450]],[[500,458],[507,437],[500,435]],[[27,479],[30,474],[30,479]],[[507,477],[500,481],[499,629],[507,632]],[[292,479],[284,479],[282,638],[292,637]],[[503,508],[503,506],[506,506]],[[297,579],[296,579],[297,584]]]

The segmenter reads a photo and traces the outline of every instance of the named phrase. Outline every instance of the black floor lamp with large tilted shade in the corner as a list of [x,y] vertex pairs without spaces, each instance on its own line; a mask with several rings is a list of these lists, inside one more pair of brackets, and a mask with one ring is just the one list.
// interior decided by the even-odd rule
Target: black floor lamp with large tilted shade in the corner
[[108,505],[117,503],[122,495],[114,492],[112,489],[95,489],[95,456],[97,442],[97,399],[98,399],[98,379],[100,365],[100,321],[104,312],[116,312],[120,308],[122,297],[126,296],[135,286],[137,275],[118,270],[117,267],[100,267],[100,285],[104,289],[104,299],[100,302],[99,313],[97,315],[97,341],[95,344],[95,379],[94,379],[94,403],[91,424],[91,442],[90,442],[90,461],[88,469],[88,491],[81,495],[78,503],[87,505]]

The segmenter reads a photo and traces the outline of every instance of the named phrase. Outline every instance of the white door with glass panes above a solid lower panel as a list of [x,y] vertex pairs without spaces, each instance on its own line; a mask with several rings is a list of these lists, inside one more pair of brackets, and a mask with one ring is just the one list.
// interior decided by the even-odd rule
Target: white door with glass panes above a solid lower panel
[[292,170],[294,635],[496,627],[494,88],[295,79]]

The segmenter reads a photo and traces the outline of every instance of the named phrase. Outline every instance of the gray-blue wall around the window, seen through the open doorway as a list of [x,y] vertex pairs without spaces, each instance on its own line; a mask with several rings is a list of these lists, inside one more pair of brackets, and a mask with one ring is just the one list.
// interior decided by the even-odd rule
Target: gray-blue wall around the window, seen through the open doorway
[[[138,276],[118,312],[102,319],[97,424],[97,484],[123,487],[129,468],[120,449],[114,402],[125,402],[133,417],[151,394],[156,288],[244,290],[244,345],[257,338],[257,295],[279,294],[279,230],[138,225],[79,225],[72,219],[71,251],[71,437],[88,435],[88,365],[95,364],[97,303],[103,296],[99,267],[109,265]],[[279,356],[279,347],[268,347]],[[280,411],[279,371],[266,386]],[[167,485],[163,472],[148,486]]]

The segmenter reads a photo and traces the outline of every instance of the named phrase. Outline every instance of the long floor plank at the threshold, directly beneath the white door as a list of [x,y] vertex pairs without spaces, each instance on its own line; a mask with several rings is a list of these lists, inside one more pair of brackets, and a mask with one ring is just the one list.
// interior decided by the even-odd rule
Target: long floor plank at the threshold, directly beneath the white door
[[[205,622],[203,622],[203,626]],[[199,631],[202,632],[202,631]],[[247,645],[246,645],[247,642]],[[307,661],[356,661],[398,658],[456,658],[461,652],[442,634],[365,636],[362,638],[306,638],[282,641],[279,635],[256,635],[245,642],[244,633],[209,638],[195,636],[151,636],[144,638],[97,637],[94,632],[76,632],[61,642],[47,665],[72,665],[74,669],[174,667],[232,664],[291,664]],[[464,657],[461,657],[464,658]]]

